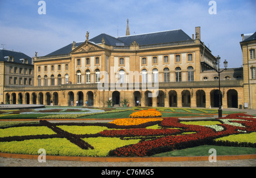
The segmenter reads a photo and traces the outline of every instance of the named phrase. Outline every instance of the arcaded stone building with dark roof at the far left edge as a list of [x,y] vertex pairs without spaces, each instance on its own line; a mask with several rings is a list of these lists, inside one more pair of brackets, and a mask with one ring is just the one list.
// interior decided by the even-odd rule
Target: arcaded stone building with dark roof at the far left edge
[[0,49],[0,103],[21,104],[29,95],[6,93],[5,90],[34,86],[34,65],[31,57],[22,52]]

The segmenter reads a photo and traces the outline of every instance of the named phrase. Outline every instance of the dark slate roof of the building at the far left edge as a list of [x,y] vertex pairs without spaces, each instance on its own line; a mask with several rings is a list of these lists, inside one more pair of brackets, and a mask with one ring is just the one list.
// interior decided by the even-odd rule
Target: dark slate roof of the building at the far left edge
[[14,63],[22,64],[23,61],[20,61],[20,59],[27,59],[28,64],[32,64],[32,58],[30,56],[25,55],[22,52],[10,51],[7,49],[0,49],[0,61],[6,61],[5,59],[6,56],[12,56]]

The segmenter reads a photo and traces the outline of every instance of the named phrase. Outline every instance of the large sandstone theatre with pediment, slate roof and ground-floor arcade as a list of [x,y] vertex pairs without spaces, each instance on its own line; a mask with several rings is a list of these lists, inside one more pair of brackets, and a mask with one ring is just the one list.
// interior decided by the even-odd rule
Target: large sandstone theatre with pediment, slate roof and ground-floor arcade
[[[127,26],[128,27],[128,26]],[[5,94],[28,94],[23,104],[69,106],[218,107],[216,56],[195,35],[183,30],[113,37],[100,34],[83,42],[71,42],[46,56],[34,58],[34,86],[9,88]],[[227,59],[229,60],[229,59]],[[224,59],[222,59],[222,62]],[[244,105],[243,69],[221,73],[224,108]],[[26,103],[27,102],[27,103]]]

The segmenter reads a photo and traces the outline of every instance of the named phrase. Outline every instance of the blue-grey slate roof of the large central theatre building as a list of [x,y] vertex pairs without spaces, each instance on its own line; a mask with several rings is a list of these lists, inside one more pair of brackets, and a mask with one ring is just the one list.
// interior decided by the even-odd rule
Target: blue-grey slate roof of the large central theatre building
[[[100,44],[102,38],[105,40],[106,45],[111,46],[130,46],[134,40],[139,45],[149,45],[149,44],[161,44],[161,43],[171,43],[171,42],[182,42],[186,40],[192,40],[183,30],[170,30],[170,31],[162,31],[162,32],[152,32],[148,34],[140,34],[140,35],[129,35],[129,36],[121,36],[121,37],[113,37],[107,34],[100,34],[92,39],[89,42],[93,42],[95,44]],[[76,47],[81,45],[84,42],[76,43]],[[66,45],[63,48],[58,49],[52,53],[49,53],[46,56],[55,56],[55,55],[66,55],[72,51],[73,43]]]

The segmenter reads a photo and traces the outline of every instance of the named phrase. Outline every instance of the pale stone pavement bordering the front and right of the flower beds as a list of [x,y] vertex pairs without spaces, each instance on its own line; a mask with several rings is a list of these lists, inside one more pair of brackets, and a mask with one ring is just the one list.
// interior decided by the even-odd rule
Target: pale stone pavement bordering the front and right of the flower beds
[[[256,110],[249,109],[223,109],[241,111],[241,113],[256,114]],[[202,118],[199,118],[202,119]],[[81,122],[81,121],[80,121]],[[95,121],[92,121],[95,122]],[[109,122],[109,121],[102,121]],[[208,161],[199,162],[72,162],[46,160],[39,163],[33,159],[1,158],[0,167],[255,167],[256,159],[243,160],[217,160],[216,163]]]

